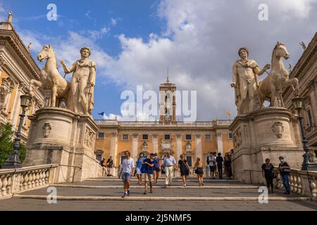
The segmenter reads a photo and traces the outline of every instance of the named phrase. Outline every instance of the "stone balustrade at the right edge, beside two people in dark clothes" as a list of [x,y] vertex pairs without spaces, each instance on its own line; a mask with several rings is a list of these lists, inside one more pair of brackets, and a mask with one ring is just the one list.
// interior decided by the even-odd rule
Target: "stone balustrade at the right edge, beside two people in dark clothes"
[[[316,182],[317,172],[292,169],[290,174],[290,191],[317,200]],[[278,174],[277,178],[277,187],[280,190],[285,190],[280,174]]]

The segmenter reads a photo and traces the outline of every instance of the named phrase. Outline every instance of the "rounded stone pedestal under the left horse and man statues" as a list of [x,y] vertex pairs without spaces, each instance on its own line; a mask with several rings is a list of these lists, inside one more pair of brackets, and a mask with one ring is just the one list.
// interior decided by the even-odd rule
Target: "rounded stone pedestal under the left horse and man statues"
[[99,128],[92,117],[63,108],[42,108],[29,119],[24,167],[57,164],[56,183],[101,176],[102,168],[94,154]]

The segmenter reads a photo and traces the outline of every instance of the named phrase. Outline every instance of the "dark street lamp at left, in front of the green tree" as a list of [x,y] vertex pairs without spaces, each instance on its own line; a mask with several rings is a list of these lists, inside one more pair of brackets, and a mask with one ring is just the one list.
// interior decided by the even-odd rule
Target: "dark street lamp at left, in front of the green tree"
[[20,115],[20,123],[18,127],[18,132],[16,134],[16,138],[14,139],[14,144],[13,144],[13,152],[10,154],[10,157],[6,162],[4,163],[4,166],[2,169],[19,169],[22,167],[21,161],[19,158],[19,148],[20,148],[20,141],[21,141],[21,129],[23,126],[23,120],[25,117],[25,110],[26,108],[30,105],[32,100],[31,96],[23,95],[20,96],[20,105],[22,107],[22,113]]

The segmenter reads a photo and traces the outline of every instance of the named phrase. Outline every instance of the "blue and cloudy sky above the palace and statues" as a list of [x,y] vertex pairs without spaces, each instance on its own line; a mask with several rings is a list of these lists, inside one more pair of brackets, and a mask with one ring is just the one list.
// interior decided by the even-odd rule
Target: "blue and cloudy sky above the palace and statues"
[[[49,4],[56,5],[57,20],[47,19]],[[268,6],[268,20],[259,20],[260,4]],[[288,68],[302,56],[299,42],[308,45],[317,32],[317,0],[0,0],[0,20],[9,11],[24,44],[32,42],[34,58],[50,44],[58,61],[70,66],[82,46],[92,49],[95,119],[135,120],[123,115],[121,94],[136,94],[137,85],[159,94],[167,68],[178,90],[197,91],[197,104],[189,104],[197,105],[196,120],[228,119],[227,110],[232,118],[237,110],[230,83],[238,49],[247,46],[249,58],[263,68],[282,41],[291,54]],[[136,104],[142,103],[146,100]],[[154,120],[136,114],[138,120]]]

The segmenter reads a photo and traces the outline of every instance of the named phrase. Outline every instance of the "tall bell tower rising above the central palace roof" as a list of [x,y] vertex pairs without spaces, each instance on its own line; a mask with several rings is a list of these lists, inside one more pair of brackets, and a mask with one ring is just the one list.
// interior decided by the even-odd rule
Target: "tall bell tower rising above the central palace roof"
[[166,82],[160,85],[160,122],[176,121],[176,85],[170,83],[167,76]]

